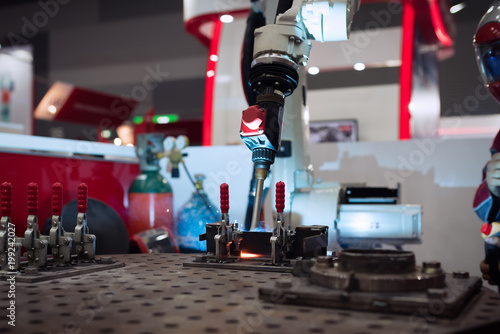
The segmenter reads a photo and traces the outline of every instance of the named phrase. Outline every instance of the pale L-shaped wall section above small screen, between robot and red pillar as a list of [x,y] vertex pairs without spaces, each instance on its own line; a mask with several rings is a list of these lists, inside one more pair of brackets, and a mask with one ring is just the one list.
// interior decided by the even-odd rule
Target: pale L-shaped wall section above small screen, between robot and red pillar
[[399,85],[309,90],[311,121],[357,119],[360,141],[399,138]]

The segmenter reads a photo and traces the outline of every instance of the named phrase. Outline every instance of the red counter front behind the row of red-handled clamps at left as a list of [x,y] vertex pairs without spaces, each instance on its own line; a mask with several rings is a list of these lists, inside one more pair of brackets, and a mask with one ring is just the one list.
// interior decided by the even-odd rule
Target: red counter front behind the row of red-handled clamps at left
[[11,219],[18,236],[24,236],[26,230],[28,183],[38,184],[40,229],[51,216],[50,196],[54,182],[63,185],[63,205],[76,199],[78,185],[85,182],[89,197],[108,204],[127,224],[128,187],[139,174],[136,163],[96,160],[86,156],[0,152],[0,183],[12,183]]

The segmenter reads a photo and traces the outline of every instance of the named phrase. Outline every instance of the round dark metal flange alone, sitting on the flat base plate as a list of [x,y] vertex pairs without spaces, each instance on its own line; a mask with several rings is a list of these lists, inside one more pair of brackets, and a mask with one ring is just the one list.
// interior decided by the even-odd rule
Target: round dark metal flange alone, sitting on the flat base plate
[[311,268],[312,283],[343,291],[414,292],[444,287],[439,262],[415,266],[412,252],[393,250],[344,250],[338,262]]

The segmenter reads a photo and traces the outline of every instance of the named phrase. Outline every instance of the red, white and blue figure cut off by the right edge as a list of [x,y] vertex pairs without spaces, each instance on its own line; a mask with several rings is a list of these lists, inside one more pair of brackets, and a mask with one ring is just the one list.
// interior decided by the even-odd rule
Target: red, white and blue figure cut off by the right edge
[[[479,71],[489,93],[500,102],[500,1],[493,2],[477,27],[473,41]],[[485,260],[480,269],[500,292],[500,131],[491,147],[492,159],[483,172],[483,182],[474,198],[474,210],[486,222],[481,227]]]

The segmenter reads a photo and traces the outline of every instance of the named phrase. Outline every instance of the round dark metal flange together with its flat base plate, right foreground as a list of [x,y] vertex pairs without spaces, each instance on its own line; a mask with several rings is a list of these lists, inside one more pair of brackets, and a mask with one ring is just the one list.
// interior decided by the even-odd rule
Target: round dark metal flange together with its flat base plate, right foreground
[[260,289],[260,297],[283,294],[281,302],[295,305],[409,314],[438,300],[435,316],[455,317],[482,285],[468,272],[445,274],[436,261],[417,267],[412,252],[349,249],[338,259],[318,257],[309,278],[292,283]]

